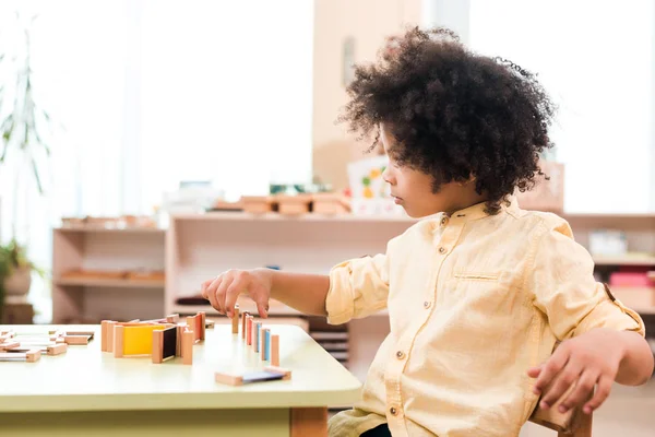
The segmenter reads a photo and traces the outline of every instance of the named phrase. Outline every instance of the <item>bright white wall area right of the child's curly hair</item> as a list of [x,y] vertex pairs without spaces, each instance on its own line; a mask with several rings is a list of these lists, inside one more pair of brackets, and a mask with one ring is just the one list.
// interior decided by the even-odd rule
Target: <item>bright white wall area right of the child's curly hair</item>
[[655,2],[424,0],[424,12],[539,74],[560,106],[568,212],[655,211]]

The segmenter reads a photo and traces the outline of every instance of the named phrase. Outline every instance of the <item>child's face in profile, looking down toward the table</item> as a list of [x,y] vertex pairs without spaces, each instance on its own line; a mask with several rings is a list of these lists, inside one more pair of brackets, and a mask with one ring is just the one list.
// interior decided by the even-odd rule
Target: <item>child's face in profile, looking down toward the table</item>
[[391,196],[410,217],[425,217],[439,212],[452,213],[485,200],[475,192],[475,184],[448,182],[433,192],[433,177],[394,161],[394,138],[380,126],[380,140],[389,156],[389,165],[382,174],[391,185]]

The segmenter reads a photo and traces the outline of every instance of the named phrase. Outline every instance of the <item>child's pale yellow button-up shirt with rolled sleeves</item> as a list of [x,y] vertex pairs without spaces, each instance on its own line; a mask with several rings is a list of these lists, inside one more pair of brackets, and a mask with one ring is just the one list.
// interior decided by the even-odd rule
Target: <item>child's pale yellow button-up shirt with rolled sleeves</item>
[[644,334],[641,318],[593,276],[561,217],[484,203],[437,214],[389,241],[385,255],[330,273],[331,323],[389,308],[391,332],[361,400],[330,436],[384,422],[394,437],[517,436],[536,406],[529,367],[557,341],[597,327]]

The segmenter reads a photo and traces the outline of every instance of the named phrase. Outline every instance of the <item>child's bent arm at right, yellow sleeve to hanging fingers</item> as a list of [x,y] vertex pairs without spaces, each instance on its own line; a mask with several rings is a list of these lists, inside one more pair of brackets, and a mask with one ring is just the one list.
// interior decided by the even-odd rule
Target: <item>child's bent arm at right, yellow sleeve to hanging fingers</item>
[[[546,363],[528,370],[537,378],[535,392],[543,392],[543,409],[574,385],[560,409],[584,403],[583,410],[591,412],[605,401],[615,381],[640,385],[653,373],[642,319],[597,283],[593,270],[591,256],[573,240],[565,222],[544,228],[526,286],[563,342]],[[596,386],[593,399],[586,402]]]

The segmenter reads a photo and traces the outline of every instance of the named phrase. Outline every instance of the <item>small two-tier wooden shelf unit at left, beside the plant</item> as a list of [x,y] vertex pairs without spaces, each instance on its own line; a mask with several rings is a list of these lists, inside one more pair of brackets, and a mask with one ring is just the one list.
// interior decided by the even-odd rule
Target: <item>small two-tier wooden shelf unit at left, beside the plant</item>
[[158,318],[163,280],[69,277],[80,270],[164,270],[165,229],[70,228],[52,235],[52,322]]

